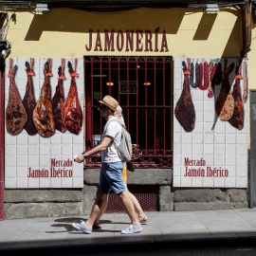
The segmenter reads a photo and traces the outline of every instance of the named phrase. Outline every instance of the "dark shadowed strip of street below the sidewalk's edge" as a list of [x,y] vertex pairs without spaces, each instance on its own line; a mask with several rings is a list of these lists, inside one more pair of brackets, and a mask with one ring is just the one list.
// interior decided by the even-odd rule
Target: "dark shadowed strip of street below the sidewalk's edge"
[[24,255],[94,255],[94,256],[255,256],[255,239],[182,241],[172,243],[127,244],[100,247],[51,247],[1,251],[1,255],[19,252]]

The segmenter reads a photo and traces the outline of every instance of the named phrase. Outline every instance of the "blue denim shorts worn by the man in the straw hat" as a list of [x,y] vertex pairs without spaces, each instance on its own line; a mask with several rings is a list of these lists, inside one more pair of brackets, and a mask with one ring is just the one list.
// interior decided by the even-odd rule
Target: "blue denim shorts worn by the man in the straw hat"
[[121,175],[122,169],[122,162],[102,163],[100,183],[97,192],[103,192],[105,194],[109,194],[111,190],[116,194],[125,192]]

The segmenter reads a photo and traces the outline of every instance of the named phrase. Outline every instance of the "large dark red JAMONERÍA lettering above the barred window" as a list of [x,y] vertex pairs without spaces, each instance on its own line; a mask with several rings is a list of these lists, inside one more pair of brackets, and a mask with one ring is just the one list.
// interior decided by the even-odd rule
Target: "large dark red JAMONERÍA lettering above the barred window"
[[85,44],[87,51],[169,51],[166,32],[151,31],[100,31],[93,40],[93,30],[89,31],[89,42]]

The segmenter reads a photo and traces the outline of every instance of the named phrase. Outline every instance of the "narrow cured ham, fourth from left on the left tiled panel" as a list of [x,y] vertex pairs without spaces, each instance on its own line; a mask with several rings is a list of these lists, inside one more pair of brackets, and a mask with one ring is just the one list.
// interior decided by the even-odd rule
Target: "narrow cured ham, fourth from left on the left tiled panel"
[[58,85],[56,86],[55,95],[52,98],[52,109],[55,117],[55,128],[64,133],[66,128],[64,126],[63,112],[64,112],[64,59],[62,59],[62,66],[59,67]]

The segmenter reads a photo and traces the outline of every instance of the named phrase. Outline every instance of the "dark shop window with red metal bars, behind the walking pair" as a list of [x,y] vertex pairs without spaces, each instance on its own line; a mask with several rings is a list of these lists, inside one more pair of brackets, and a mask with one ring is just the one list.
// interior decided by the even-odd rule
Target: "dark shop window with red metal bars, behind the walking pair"
[[[85,148],[101,143],[99,101],[119,101],[133,142],[136,168],[171,168],[173,160],[172,58],[85,57]],[[101,155],[86,160],[101,167]]]

